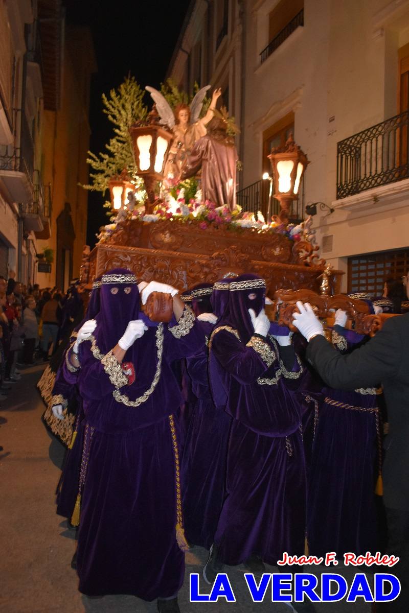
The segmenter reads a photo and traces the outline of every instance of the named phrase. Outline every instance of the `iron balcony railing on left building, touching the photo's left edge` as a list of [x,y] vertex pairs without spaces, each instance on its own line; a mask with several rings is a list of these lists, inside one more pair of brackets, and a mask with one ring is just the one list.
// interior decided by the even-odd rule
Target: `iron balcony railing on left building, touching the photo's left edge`
[[34,143],[32,142],[26,113],[15,110],[15,117],[20,113],[20,121],[15,120],[14,141],[10,145],[0,145],[0,170],[16,170],[27,175],[32,185],[34,173]]

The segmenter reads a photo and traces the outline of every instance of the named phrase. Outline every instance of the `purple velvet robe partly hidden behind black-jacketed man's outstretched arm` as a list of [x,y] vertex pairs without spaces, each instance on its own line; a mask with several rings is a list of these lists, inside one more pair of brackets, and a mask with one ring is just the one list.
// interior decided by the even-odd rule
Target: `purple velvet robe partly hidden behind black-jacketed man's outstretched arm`
[[[334,332],[341,352],[363,338],[340,326]],[[307,538],[312,555],[335,551],[342,557],[345,552],[377,549],[377,422],[368,410],[377,406],[377,396],[369,392],[323,387],[308,483]],[[325,398],[362,410],[334,406]]]

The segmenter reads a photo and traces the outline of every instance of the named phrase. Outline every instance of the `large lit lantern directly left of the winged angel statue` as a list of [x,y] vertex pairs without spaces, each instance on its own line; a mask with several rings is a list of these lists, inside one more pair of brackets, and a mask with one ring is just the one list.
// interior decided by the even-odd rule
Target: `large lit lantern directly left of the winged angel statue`
[[145,204],[147,213],[151,213],[155,205],[155,187],[157,181],[164,178],[164,168],[169,154],[170,143],[174,135],[158,124],[155,113],[150,113],[151,123],[147,126],[131,126],[132,144],[138,175],[143,178],[148,194]]

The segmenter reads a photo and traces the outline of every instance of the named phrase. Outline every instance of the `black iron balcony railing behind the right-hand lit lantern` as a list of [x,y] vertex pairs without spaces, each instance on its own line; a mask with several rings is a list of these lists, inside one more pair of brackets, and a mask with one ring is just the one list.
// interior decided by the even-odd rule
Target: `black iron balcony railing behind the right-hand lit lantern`
[[[236,194],[237,204],[242,207],[243,211],[251,211],[257,213],[261,211],[264,218],[267,218],[267,211],[269,208],[269,191],[270,182],[267,180],[256,181],[251,183],[246,188],[240,189]],[[300,197],[298,200],[294,200],[291,205],[291,211],[289,218],[292,222],[299,222],[304,219],[304,205],[305,205],[305,193],[304,193],[304,178],[300,185]],[[278,215],[280,213],[279,200],[272,198],[271,200],[271,215]]]

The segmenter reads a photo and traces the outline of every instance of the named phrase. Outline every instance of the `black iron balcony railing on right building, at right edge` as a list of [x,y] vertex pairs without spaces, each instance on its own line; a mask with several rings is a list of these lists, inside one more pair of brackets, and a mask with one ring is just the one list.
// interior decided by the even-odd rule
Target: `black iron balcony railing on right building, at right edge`
[[409,112],[338,142],[337,199],[409,178]]

